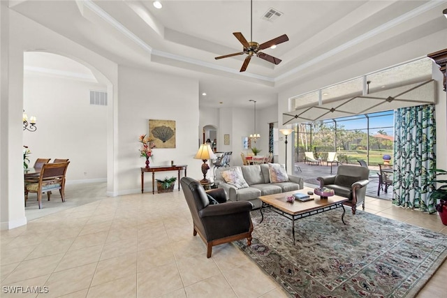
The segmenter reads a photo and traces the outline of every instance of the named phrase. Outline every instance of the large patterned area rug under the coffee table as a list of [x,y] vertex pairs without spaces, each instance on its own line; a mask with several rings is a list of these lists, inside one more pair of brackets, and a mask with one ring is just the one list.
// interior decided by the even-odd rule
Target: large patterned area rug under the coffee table
[[251,214],[253,241],[235,241],[293,297],[414,297],[447,258],[447,235],[358,210],[291,221]]

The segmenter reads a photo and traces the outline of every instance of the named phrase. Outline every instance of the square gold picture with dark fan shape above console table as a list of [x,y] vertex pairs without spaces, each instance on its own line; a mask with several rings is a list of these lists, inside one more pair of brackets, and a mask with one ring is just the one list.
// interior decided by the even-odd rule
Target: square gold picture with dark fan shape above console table
[[155,148],[175,148],[175,121],[149,119],[149,136]]

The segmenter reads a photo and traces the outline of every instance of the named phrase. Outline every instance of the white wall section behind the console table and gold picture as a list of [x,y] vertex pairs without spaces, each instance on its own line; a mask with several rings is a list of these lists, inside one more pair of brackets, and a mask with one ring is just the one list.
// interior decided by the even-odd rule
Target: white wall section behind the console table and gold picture
[[[199,125],[198,81],[137,68],[119,67],[118,103],[118,176],[117,194],[140,191],[140,158],[138,137],[149,133],[149,119],[174,120],[176,147],[154,149],[150,165],[188,165],[188,176],[203,177],[202,161],[196,155]],[[156,178],[177,177],[177,172],[157,172]],[[145,191],[152,190],[152,175],[145,176]],[[178,181],[177,181],[178,182]]]

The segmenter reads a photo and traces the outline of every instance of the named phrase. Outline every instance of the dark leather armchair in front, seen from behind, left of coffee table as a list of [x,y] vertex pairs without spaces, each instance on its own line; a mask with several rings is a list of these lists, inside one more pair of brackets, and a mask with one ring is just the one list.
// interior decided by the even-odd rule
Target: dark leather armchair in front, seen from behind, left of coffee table
[[[251,202],[227,202],[222,188],[205,192],[198,181],[189,177],[183,177],[180,184],[193,218],[193,235],[199,234],[207,244],[207,258],[211,257],[212,246],[244,238],[251,245]],[[219,204],[210,204],[208,195]]]

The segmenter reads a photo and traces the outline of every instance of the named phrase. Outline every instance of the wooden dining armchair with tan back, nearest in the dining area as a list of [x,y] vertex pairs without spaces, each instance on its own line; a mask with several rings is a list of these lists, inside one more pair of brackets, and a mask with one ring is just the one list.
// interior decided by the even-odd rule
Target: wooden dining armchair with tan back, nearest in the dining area
[[47,193],[50,200],[51,191],[59,189],[62,202],[65,202],[65,174],[70,162],[44,163],[36,183],[25,186],[25,206],[27,205],[28,193],[37,193],[39,209],[42,208],[42,193]]

